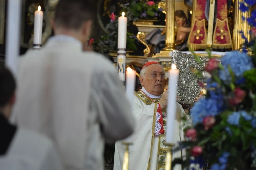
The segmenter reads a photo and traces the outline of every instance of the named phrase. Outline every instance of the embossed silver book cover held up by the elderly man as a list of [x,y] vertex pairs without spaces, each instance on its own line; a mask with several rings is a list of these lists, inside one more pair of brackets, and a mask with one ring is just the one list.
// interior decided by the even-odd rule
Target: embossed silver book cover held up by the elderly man
[[[177,69],[179,70],[177,89],[179,102],[193,104],[194,99],[202,91],[202,87],[199,86],[198,82],[203,82],[204,66],[207,57],[198,57],[201,63],[196,61],[194,55],[185,54],[179,52],[178,50],[174,50],[172,52],[172,63],[176,64]],[[191,69],[198,70],[201,76],[195,75],[193,72],[191,72]]]

